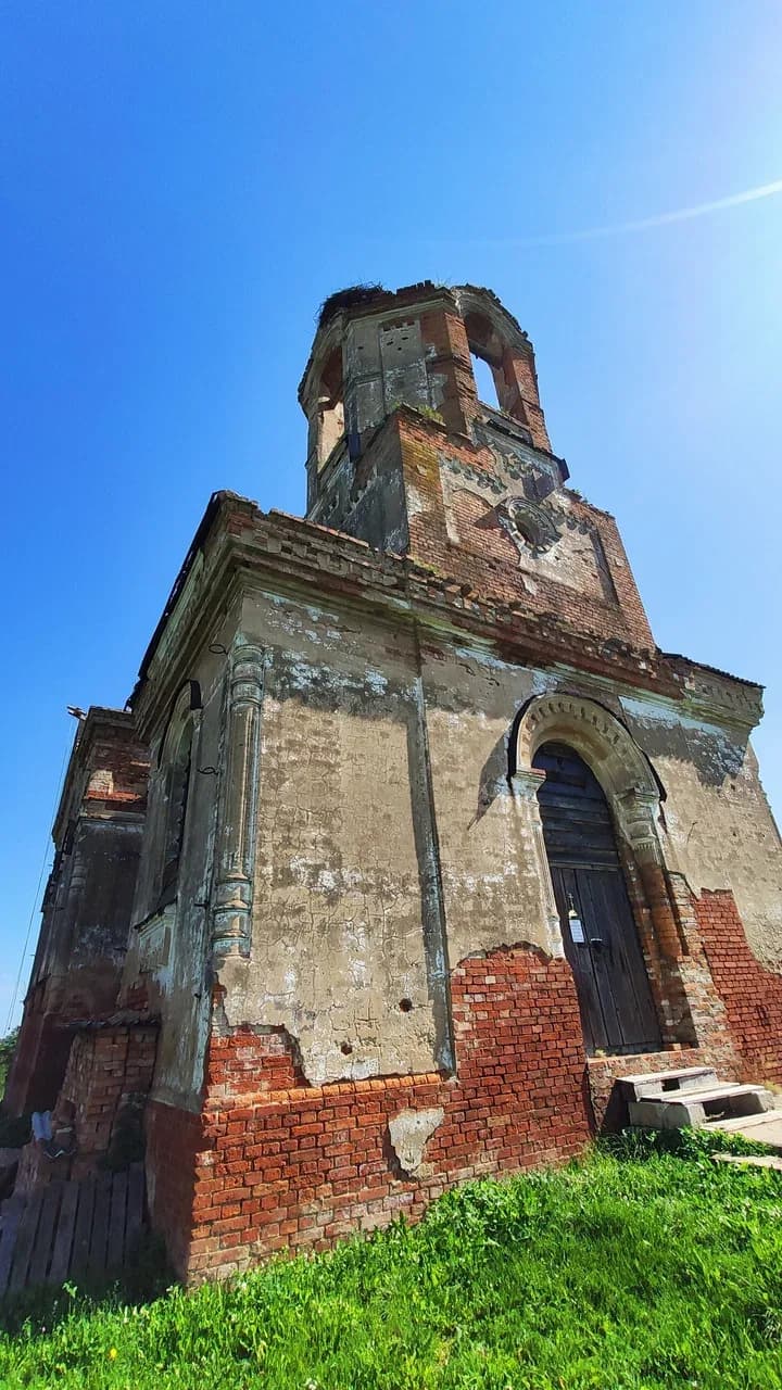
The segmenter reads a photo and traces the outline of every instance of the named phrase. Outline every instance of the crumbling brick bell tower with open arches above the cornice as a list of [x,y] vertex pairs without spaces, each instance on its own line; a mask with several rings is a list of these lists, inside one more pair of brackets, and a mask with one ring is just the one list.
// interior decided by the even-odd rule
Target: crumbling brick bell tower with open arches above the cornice
[[[474,359],[497,406],[479,399]],[[491,291],[424,281],[333,295],[299,400],[308,520],[483,599],[654,646],[614,518],[565,486],[533,346]]]

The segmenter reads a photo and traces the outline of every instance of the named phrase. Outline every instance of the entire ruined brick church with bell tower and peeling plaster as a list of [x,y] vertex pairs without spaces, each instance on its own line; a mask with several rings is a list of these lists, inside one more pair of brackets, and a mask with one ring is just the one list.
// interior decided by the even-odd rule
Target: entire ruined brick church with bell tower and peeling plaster
[[761,689],[657,648],[526,332],[345,291],[299,399],[306,517],[214,493],[129,713],[85,720],[11,1076],[74,1170],[132,1102],[188,1279],[576,1154],[630,1074],[782,1083]]

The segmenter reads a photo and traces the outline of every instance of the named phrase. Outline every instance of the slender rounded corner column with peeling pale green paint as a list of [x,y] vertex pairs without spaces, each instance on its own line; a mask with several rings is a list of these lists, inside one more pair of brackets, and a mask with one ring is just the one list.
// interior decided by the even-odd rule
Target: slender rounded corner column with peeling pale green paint
[[212,948],[249,955],[257,828],[263,652],[234,651],[228,684]]

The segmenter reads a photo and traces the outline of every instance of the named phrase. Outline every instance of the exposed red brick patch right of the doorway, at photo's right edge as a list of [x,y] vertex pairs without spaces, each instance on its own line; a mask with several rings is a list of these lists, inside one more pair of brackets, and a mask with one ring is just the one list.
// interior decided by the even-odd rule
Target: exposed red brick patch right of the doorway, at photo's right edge
[[746,1076],[782,1084],[782,974],[767,970],[750,951],[732,892],[703,892],[694,908]]

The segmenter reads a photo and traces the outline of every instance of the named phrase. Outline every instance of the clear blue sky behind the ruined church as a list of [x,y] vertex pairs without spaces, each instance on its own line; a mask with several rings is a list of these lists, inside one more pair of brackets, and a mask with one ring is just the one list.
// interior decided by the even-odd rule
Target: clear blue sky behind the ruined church
[[778,0],[1,7],[0,1031],[65,706],[124,703],[214,488],[303,510],[345,284],[516,314],[658,644],[767,684],[779,812],[782,196],[569,234],[782,179],[781,53]]

